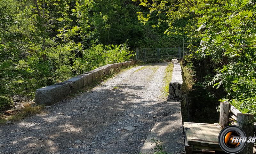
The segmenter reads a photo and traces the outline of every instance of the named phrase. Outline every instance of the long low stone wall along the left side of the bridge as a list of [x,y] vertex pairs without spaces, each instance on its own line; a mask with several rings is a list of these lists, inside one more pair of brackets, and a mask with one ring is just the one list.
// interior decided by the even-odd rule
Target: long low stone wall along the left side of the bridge
[[136,61],[126,61],[123,63],[108,64],[96,68],[95,70],[80,74],[76,77],[68,79],[60,83],[56,83],[47,87],[36,89],[35,102],[36,104],[53,104],[59,102],[65,96],[92,84],[108,74],[111,69],[120,70],[125,67],[134,65]]

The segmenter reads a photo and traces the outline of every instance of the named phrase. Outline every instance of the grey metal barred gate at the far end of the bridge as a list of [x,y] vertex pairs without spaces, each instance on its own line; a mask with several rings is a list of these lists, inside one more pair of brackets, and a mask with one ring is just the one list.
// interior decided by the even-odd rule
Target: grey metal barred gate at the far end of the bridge
[[180,53],[180,48],[144,48],[136,49],[136,59],[144,62],[171,60],[173,58],[182,58],[183,53]]

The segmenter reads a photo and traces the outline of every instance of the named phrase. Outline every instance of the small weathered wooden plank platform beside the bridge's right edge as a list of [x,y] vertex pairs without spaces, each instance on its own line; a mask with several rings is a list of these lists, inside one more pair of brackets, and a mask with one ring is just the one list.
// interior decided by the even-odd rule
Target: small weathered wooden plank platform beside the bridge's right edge
[[184,122],[183,127],[189,146],[197,149],[221,150],[218,143],[221,127],[218,123]]

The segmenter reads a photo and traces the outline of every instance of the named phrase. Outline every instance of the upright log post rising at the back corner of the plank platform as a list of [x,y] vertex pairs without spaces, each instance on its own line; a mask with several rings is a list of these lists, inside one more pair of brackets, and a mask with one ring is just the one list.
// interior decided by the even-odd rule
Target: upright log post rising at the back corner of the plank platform
[[229,103],[220,103],[220,126],[222,128],[228,126]]

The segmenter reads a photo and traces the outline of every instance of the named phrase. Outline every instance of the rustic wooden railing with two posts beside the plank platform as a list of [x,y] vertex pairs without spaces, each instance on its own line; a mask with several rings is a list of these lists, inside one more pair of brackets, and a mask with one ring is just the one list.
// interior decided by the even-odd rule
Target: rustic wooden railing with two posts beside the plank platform
[[[241,127],[244,130],[247,138],[249,136],[254,136],[256,125],[253,123],[253,115],[240,112],[226,101],[221,102],[220,126],[224,128],[229,124]],[[253,147],[253,143],[246,143],[244,150],[239,154],[251,154],[254,153],[254,151],[256,151],[256,149]]]

